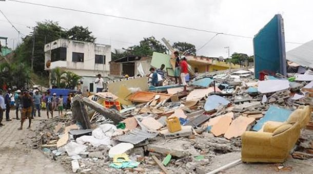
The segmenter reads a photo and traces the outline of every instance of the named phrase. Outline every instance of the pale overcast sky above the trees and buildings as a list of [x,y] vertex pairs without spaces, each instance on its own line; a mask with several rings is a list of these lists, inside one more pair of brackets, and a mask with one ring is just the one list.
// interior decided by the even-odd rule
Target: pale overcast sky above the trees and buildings
[[[253,37],[277,13],[284,18],[285,40],[307,42],[313,38],[313,2],[310,0],[193,0],[193,1],[147,1],[147,0],[19,0],[38,4],[60,6],[116,16],[138,18],[159,23],[217,31]],[[198,49],[214,34],[181,28],[141,23],[113,17],[73,12],[49,7],[0,1],[0,9],[24,34],[31,31],[36,21],[58,21],[66,29],[89,27],[96,42],[111,44],[120,49],[138,44],[143,37],[153,35],[175,41],[186,41]],[[17,32],[0,14],[0,36],[9,37],[9,47]],[[198,55],[227,57],[226,49],[233,52],[253,54],[252,39],[218,35]],[[299,45],[286,43],[286,50]]]

